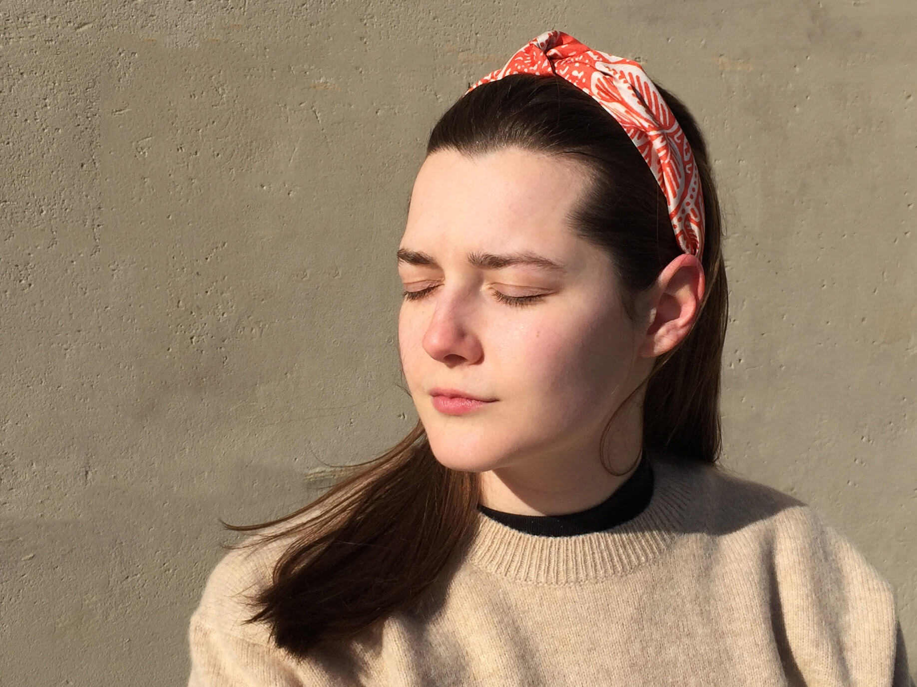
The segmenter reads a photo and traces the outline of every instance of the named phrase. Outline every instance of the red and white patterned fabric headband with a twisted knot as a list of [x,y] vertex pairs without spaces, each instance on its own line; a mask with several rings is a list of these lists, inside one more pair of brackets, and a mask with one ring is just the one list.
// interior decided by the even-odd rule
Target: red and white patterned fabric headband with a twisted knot
[[503,69],[469,91],[510,74],[556,74],[589,93],[624,128],[652,170],[668,204],[681,250],[701,256],[703,196],[688,139],[643,68],[633,60],[584,46],[562,31],[530,40]]

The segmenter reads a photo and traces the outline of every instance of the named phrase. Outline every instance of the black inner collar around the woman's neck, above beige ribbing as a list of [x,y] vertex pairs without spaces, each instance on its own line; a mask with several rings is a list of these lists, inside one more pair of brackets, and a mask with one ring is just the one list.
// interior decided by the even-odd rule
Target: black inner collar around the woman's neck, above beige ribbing
[[528,516],[504,513],[478,504],[478,510],[485,516],[507,527],[527,534],[543,537],[569,537],[575,534],[589,534],[611,529],[643,512],[653,496],[653,468],[646,454],[640,459],[634,474],[623,485],[598,506],[579,513],[565,513],[557,516]]

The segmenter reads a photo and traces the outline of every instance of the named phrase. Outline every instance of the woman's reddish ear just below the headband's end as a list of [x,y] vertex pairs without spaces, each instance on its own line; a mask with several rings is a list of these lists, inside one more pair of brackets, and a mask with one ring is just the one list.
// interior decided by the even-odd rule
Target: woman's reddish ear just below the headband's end
[[696,256],[686,254],[668,263],[650,289],[649,325],[637,354],[657,357],[684,341],[701,310],[703,289],[703,266]]

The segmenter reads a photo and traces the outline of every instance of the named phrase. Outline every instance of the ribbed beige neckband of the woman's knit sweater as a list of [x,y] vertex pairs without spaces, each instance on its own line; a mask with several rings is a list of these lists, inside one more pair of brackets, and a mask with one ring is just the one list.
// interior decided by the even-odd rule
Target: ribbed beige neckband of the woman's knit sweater
[[601,532],[544,537],[513,529],[478,511],[466,561],[489,573],[540,584],[597,582],[622,575],[666,551],[684,531],[705,466],[650,454],[655,485],[638,516]]

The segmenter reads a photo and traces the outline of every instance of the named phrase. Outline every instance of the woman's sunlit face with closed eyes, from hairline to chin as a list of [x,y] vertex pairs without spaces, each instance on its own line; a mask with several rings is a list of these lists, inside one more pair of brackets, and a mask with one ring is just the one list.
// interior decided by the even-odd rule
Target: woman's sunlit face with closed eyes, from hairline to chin
[[586,179],[580,163],[520,148],[440,150],[417,175],[399,249],[408,293],[398,340],[449,468],[557,473],[596,461],[613,410],[646,376],[636,356],[646,328],[625,314],[610,257],[568,221]]

